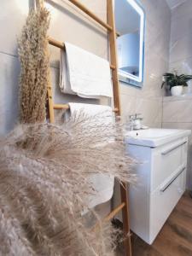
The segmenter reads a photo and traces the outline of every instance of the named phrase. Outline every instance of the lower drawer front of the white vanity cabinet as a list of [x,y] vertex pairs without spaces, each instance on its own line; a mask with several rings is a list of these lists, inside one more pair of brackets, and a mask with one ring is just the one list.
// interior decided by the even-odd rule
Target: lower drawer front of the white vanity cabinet
[[166,183],[161,184],[150,195],[149,243],[154,241],[185,191],[186,168],[181,166],[176,174],[178,176],[176,175],[175,179],[171,177],[170,181],[167,181],[167,185]]

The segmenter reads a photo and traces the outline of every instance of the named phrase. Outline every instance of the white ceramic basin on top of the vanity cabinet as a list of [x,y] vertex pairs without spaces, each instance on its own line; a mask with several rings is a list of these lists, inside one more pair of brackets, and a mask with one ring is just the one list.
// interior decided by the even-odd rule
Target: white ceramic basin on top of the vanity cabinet
[[180,137],[187,137],[190,133],[190,130],[146,129],[128,131],[125,137],[129,144],[156,148],[160,145],[175,141]]

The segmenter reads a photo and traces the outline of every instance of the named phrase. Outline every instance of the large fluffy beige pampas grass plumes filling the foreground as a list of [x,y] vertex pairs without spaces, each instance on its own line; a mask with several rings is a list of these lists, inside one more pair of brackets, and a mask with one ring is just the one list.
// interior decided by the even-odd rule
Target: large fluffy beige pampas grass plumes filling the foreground
[[60,125],[19,125],[0,142],[0,255],[113,255],[118,231],[91,229],[81,212],[96,193],[92,173],[135,178],[121,129],[76,114]]

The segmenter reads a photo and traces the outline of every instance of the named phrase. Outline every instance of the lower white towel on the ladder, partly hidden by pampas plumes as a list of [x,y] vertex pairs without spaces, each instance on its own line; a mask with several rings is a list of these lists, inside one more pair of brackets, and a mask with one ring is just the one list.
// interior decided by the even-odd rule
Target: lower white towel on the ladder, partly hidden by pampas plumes
[[[104,115],[105,122],[114,121],[114,114],[112,108],[102,105],[69,103],[71,114],[86,113],[88,116],[95,116],[96,114]],[[89,195],[87,198],[88,207],[93,208],[99,204],[109,201],[113,196],[114,177],[104,174],[91,174],[89,178],[93,188],[96,190],[96,195]],[[85,213],[86,211],[84,211]]]

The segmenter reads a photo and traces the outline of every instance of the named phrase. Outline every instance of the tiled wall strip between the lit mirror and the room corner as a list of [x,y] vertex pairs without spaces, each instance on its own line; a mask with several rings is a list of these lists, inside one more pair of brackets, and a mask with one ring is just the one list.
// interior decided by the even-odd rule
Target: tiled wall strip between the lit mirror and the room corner
[[123,115],[142,113],[143,123],[161,127],[162,74],[168,69],[171,12],[164,0],[141,0],[146,14],[143,88],[121,84]]

